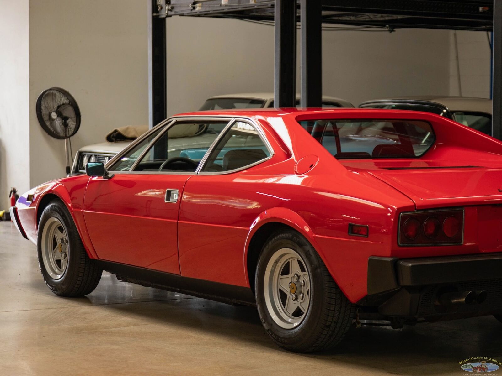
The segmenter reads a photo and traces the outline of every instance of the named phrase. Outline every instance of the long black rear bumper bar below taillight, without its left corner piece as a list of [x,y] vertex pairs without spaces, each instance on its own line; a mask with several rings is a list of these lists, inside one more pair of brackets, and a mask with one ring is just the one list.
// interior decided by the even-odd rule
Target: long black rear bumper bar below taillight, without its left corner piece
[[502,254],[399,260],[396,271],[401,286],[499,279],[502,277]]

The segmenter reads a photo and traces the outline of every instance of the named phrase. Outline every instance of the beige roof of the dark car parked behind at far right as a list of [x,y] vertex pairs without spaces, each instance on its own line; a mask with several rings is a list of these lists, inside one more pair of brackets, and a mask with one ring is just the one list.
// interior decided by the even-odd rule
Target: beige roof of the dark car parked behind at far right
[[372,99],[364,101],[360,105],[372,102],[380,102],[380,101],[392,102],[393,100],[435,102],[447,107],[450,111],[476,111],[476,112],[486,112],[489,114],[491,114],[492,112],[491,99],[476,98],[476,97],[458,97],[458,96],[415,95],[415,96],[403,96],[403,97],[389,97],[389,98],[380,98],[380,99]]

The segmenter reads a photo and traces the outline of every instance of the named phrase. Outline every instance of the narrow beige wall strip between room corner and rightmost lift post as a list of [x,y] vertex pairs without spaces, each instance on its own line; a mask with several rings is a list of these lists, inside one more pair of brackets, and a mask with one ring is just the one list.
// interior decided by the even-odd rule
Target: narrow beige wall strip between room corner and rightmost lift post
[[[489,98],[490,46],[486,32],[457,31],[462,96]],[[454,34],[450,33],[450,94],[460,95]]]

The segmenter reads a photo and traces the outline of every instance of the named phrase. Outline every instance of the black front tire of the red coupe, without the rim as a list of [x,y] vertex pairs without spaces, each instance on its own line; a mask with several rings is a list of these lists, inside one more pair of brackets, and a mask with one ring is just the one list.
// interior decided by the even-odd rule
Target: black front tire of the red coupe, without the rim
[[[59,279],[54,279],[49,275],[42,257],[43,229],[51,218],[56,218],[61,222],[68,239],[67,266]],[[87,256],[75,223],[66,206],[59,200],[52,201],[42,213],[38,226],[37,251],[38,266],[44,281],[56,295],[76,297],[90,294],[101,279],[102,269],[98,268]]]

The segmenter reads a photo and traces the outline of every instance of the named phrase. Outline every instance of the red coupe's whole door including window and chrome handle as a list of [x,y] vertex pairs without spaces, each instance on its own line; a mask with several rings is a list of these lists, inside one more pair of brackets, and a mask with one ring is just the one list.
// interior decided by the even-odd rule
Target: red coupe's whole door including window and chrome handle
[[89,179],[84,218],[100,259],[180,274],[183,189],[227,122],[179,119],[160,126],[117,157],[111,179]]

